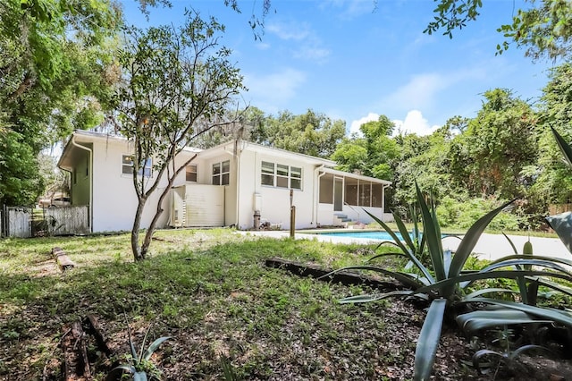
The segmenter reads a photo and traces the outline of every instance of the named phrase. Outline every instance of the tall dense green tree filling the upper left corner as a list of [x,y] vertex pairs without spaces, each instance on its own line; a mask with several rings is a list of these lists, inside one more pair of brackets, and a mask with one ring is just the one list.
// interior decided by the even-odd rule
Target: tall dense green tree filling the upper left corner
[[29,171],[21,177],[17,166],[4,167],[4,195],[20,196],[1,202],[33,202],[42,191],[34,181],[38,163],[32,163],[39,151],[101,120],[114,81],[111,47],[120,22],[112,0],[0,3],[0,107],[5,128],[13,131],[4,142],[17,142],[13,155],[28,157]]

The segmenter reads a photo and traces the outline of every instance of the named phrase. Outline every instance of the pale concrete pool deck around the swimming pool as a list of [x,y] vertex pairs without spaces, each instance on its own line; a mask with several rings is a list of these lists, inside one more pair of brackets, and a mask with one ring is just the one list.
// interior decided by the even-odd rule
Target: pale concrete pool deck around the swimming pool
[[[244,235],[253,235],[259,237],[269,238],[287,238],[290,236],[286,231],[259,231],[259,232],[244,232],[239,231]],[[348,232],[349,233],[349,232]],[[321,242],[332,243],[358,243],[358,244],[372,244],[379,243],[380,241],[371,240],[367,238],[355,237],[341,237],[338,235],[324,235],[324,234],[308,234],[296,233],[295,238],[298,240],[317,240]],[[528,241],[528,237],[524,235],[509,235],[510,240],[515,244],[517,250],[522,250],[523,245]],[[564,243],[558,238],[544,238],[544,237],[530,237],[533,244],[533,251],[535,255],[568,258],[572,259],[572,254],[566,249]],[[442,241],[443,249],[457,250],[460,240],[455,237],[447,237]],[[509,241],[502,234],[489,234],[483,233],[479,241],[476,242],[475,255],[481,259],[495,260],[513,254]]]

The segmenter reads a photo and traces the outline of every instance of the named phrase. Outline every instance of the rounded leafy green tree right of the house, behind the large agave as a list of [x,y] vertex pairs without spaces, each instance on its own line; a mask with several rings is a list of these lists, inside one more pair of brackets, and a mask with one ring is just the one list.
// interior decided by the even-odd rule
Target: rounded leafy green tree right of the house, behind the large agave
[[453,182],[471,196],[522,198],[531,179],[523,168],[537,157],[536,115],[507,89],[484,93],[482,109],[450,147]]

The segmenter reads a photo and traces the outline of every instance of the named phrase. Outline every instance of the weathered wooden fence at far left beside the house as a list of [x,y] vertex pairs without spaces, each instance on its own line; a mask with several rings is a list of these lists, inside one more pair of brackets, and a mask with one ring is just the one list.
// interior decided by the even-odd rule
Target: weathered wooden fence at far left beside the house
[[38,237],[89,233],[89,208],[80,207],[3,207],[0,235]]

